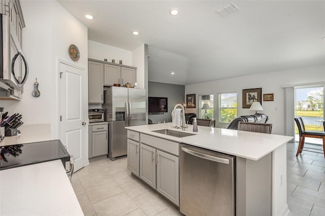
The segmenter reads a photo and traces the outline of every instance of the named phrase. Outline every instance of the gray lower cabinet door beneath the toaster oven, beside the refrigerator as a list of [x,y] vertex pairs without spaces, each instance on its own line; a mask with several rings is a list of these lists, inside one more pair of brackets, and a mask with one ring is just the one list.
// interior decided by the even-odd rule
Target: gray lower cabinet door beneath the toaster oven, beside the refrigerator
[[92,132],[92,157],[108,154],[108,131]]

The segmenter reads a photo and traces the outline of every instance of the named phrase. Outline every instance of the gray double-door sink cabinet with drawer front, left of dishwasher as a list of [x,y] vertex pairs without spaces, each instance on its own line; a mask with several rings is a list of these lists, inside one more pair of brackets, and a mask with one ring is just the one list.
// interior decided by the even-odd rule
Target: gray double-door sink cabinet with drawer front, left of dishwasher
[[179,143],[140,133],[140,178],[179,206]]

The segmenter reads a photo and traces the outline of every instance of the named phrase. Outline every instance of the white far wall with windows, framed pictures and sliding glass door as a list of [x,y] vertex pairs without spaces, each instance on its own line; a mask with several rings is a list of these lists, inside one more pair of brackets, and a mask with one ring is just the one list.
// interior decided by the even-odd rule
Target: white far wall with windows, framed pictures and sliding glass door
[[[284,90],[281,86],[325,81],[324,71],[324,65],[316,65],[187,85],[185,86],[185,94],[196,94],[197,99],[196,109],[186,108],[186,112],[199,114],[198,95],[200,94],[213,93],[215,107],[218,107],[218,93],[237,92],[237,115],[252,115],[254,111],[242,108],[242,90],[262,88],[262,94],[274,93],[274,101],[262,101],[264,111],[260,113],[269,116],[270,120],[268,123],[273,124],[273,134],[284,135]],[[227,126],[225,124],[218,124],[217,109],[215,109],[214,116],[216,127]]]

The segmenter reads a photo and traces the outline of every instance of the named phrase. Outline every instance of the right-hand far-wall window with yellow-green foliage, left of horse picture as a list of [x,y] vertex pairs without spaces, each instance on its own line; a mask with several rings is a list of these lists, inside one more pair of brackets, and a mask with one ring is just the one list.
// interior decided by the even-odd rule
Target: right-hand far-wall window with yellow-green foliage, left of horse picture
[[230,123],[237,118],[237,93],[218,94],[219,123]]

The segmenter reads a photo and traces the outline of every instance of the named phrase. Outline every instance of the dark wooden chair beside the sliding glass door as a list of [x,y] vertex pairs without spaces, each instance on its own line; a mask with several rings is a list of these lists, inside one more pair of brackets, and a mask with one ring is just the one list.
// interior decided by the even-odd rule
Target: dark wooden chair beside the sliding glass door
[[[299,146],[297,150],[296,157],[299,155],[299,153],[302,153],[304,149],[305,144],[305,137],[312,137],[312,138],[320,138],[323,140],[323,152],[324,152],[324,158],[325,158],[325,122],[323,122],[324,132],[321,131],[306,131],[305,130],[305,124],[302,118],[295,118],[295,122],[297,123],[297,127],[299,130]],[[313,149],[313,148],[308,148]],[[313,152],[313,151],[310,151]],[[319,153],[319,152],[317,152]]]

